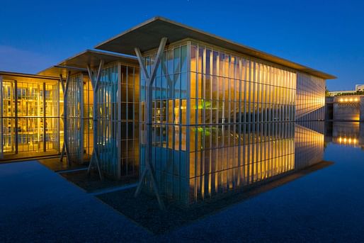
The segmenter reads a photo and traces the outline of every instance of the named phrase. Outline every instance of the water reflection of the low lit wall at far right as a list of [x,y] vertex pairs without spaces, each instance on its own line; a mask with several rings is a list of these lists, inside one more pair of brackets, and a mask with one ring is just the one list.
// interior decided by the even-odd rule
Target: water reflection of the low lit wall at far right
[[325,137],[326,142],[364,149],[364,123],[326,123]]

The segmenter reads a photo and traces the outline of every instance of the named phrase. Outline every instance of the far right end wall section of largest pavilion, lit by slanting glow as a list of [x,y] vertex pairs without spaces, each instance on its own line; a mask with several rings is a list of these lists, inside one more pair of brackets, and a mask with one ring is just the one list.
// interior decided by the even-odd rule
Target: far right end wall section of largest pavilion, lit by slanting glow
[[324,120],[325,80],[297,72],[296,120]]

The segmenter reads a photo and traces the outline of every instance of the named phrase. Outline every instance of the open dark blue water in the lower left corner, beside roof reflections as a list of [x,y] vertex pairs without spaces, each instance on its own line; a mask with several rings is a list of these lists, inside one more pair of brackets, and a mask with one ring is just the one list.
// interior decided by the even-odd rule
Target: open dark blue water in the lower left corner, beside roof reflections
[[151,236],[38,162],[0,164],[0,242],[134,242]]

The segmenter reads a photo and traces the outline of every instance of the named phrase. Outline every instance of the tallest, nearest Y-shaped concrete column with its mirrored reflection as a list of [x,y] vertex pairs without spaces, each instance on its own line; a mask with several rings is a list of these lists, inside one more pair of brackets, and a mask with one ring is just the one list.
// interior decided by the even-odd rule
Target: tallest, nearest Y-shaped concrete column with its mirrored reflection
[[152,87],[154,78],[157,74],[157,67],[159,65],[159,62],[161,61],[161,56],[164,52],[164,47],[166,46],[167,38],[161,38],[161,43],[159,44],[159,49],[157,52],[157,56],[154,60],[154,64],[152,67],[152,71],[149,74],[147,72],[147,68],[145,67],[145,64],[142,59],[142,54],[140,53],[139,48],[135,48],[135,54],[137,55],[138,62],[140,64],[140,69],[142,69],[142,72],[144,74],[145,79],[145,88],[146,88],[146,100],[145,100],[145,115],[146,115],[146,125],[147,125],[147,144],[146,144],[146,154],[145,154],[145,169],[142,171],[142,176],[140,177],[140,181],[137,186],[137,191],[135,191],[135,196],[138,196],[140,193],[140,190],[142,189],[143,181],[145,176],[147,175],[147,172],[149,171],[152,186],[154,189],[154,193],[157,196],[157,200],[159,203],[159,208],[164,209],[164,202],[161,200],[161,197],[159,195],[159,188],[157,185],[157,179],[154,174],[154,168],[152,164],[152,112],[153,112],[153,97],[152,97]]

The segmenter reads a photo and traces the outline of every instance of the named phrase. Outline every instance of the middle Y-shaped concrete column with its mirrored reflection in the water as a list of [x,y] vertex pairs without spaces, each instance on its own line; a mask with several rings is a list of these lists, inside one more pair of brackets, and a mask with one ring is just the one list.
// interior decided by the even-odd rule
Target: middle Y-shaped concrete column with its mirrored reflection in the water
[[94,75],[93,72],[91,71],[91,67],[87,66],[87,71],[89,72],[89,79],[91,80],[91,85],[93,89],[93,152],[89,164],[89,169],[87,169],[87,173],[89,174],[93,164],[96,164],[96,168],[98,170],[98,176],[100,176],[101,180],[103,179],[103,175],[101,173],[101,168],[98,160],[98,146],[97,146],[97,91],[98,91],[98,83],[100,82],[101,79],[102,70],[103,70],[103,60],[100,61],[100,65],[98,66],[96,79],[93,79]]

